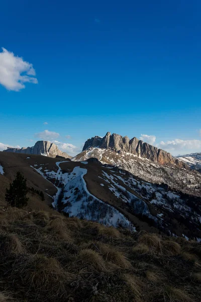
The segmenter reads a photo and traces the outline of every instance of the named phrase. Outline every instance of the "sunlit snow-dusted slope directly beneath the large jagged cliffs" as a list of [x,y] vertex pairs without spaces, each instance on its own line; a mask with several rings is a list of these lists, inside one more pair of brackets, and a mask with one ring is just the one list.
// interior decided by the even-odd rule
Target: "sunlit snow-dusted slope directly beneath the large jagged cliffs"
[[127,170],[146,181],[165,183],[171,188],[201,196],[201,175],[196,171],[177,165],[160,165],[124,151],[116,153],[109,148],[89,147],[71,160],[86,161],[89,158],[97,158],[103,164]]

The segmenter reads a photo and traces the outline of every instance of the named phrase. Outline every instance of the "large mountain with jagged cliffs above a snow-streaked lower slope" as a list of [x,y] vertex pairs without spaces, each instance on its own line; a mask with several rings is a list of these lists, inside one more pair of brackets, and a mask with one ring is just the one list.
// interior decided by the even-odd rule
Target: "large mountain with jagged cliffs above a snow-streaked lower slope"
[[96,158],[102,164],[108,164],[127,170],[152,183],[165,183],[169,187],[188,194],[201,196],[201,175],[169,153],[157,149],[143,141],[122,137],[118,134],[88,139],[83,151],[72,161],[86,161]]

